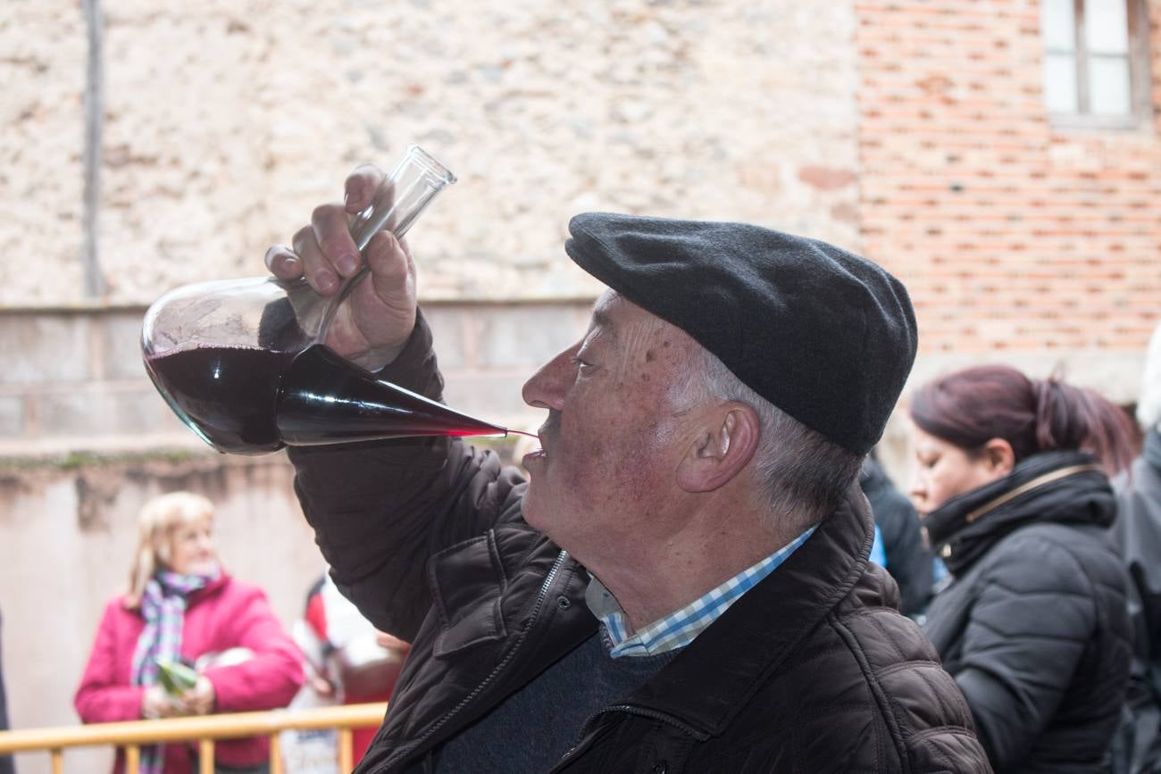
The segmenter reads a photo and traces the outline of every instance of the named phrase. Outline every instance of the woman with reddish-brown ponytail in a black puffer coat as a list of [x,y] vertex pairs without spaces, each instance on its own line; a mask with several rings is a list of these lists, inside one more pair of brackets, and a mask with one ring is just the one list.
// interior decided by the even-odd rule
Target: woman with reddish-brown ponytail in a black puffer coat
[[947,566],[924,631],[997,774],[1103,772],[1131,654],[1106,530],[1128,417],[1014,368],[968,368],[910,405],[911,500]]

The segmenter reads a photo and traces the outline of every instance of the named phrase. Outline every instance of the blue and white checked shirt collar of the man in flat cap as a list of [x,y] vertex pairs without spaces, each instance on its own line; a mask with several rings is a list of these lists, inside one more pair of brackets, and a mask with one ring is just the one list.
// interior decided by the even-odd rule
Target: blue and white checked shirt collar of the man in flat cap
[[619,656],[656,656],[685,648],[706,627],[716,621],[717,616],[724,613],[730,605],[741,599],[742,594],[757,586],[763,578],[773,572],[813,533],[814,527],[810,527],[762,562],[747,567],[685,607],[654,621],[632,637],[628,635],[625,610],[596,577],[589,583],[589,588],[585,591],[585,603],[604,625],[613,645],[610,651],[610,656],[613,658]]

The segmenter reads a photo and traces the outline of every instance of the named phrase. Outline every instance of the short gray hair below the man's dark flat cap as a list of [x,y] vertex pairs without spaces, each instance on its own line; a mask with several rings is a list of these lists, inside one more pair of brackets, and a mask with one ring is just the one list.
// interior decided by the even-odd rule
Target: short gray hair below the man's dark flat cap
[[713,353],[697,349],[704,362],[691,362],[685,397],[736,400],[758,414],[762,436],[753,456],[771,519],[791,519],[787,526],[799,531],[824,519],[846,498],[863,468],[863,455],[807,427],[743,384]]

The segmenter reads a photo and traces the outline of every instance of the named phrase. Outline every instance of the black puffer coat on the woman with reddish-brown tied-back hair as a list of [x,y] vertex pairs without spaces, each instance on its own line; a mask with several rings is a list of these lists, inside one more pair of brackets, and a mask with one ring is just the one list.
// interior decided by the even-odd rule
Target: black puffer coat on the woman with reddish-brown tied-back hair
[[1053,451],[924,520],[953,580],[923,629],[1000,774],[1105,769],[1130,663],[1115,513],[1095,460]]

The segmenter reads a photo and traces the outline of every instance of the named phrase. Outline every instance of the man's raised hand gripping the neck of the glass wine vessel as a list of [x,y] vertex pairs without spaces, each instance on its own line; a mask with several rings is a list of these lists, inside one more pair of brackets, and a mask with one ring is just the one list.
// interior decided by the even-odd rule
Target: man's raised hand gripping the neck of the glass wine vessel
[[290,248],[274,245],[266,251],[274,276],[305,277],[324,296],[333,296],[344,280],[358,274],[366,255],[370,276],[338,310],[324,343],[372,370],[395,360],[416,324],[416,267],[406,243],[380,231],[360,255],[349,232],[351,219],[372,202],[383,178],[377,167],[358,167],[347,176],[345,203],[316,207]]

